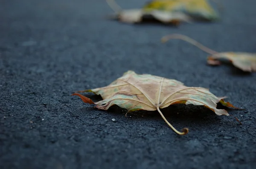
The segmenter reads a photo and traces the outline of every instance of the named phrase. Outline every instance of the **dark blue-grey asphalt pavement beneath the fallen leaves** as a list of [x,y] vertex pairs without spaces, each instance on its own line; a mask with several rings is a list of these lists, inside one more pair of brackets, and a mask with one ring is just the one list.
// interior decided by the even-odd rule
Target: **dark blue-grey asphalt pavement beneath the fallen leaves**
[[[116,0],[137,8],[145,0]],[[256,1],[224,0],[218,23],[128,25],[105,16],[104,0],[0,2],[1,169],[253,169],[256,166],[256,73],[211,67],[179,33],[216,51],[256,52]],[[177,79],[228,96],[233,117],[201,106],[108,111],[74,91],[103,87],[127,70]],[[93,100],[99,96],[87,94]],[[113,122],[111,119],[115,118]]]

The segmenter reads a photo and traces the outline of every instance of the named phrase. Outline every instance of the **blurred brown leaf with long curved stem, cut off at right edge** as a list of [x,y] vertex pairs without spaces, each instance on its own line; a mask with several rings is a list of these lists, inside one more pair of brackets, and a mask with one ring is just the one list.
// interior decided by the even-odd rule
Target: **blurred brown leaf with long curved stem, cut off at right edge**
[[226,59],[229,62],[231,62],[236,68],[239,68],[246,72],[254,72],[256,71],[256,53],[246,53],[246,52],[216,52],[213,51],[201,43],[195,41],[194,39],[191,39],[190,37],[187,37],[185,35],[181,34],[171,34],[164,36],[161,40],[162,42],[166,42],[169,39],[182,39],[186,42],[189,42],[201,50],[207,52],[208,54],[211,54],[212,56],[209,56],[207,58],[207,63],[209,65],[220,65],[221,59]]

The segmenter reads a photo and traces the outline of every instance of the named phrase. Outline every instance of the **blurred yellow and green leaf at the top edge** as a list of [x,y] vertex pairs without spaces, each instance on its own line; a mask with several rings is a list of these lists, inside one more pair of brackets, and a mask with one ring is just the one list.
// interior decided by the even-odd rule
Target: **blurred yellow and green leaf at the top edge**
[[152,0],[144,6],[144,11],[169,11],[187,14],[196,19],[216,20],[218,13],[207,0]]

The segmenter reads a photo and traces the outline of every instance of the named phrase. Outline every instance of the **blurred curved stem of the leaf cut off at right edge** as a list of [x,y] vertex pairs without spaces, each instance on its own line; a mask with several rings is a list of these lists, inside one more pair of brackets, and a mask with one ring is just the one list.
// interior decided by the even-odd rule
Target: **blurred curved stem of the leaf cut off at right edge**
[[197,42],[196,40],[190,38],[190,37],[187,37],[185,35],[182,35],[182,34],[170,34],[170,35],[166,35],[164,37],[162,37],[161,41],[163,43],[167,42],[169,39],[181,39],[181,40],[184,40],[186,42],[189,42],[191,43],[192,45],[195,45],[196,47],[198,47],[199,49],[201,49],[202,51],[205,51],[207,52],[208,54],[218,54],[219,52],[217,51],[213,51],[212,49],[210,48],[207,48],[206,46],[202,45],[201,43]]

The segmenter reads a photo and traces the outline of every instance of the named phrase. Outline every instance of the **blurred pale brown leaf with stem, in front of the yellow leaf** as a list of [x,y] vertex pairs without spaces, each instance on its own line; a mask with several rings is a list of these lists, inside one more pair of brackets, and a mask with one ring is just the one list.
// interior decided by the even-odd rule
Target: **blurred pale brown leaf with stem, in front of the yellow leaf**
[[123,23],[140,23],[143,19],[154,19],[166,24],[177,25],[180,21],[190,22],[191,17],[183,12],[164,10],[126,9],[123,10],[114,0],[107,0],[109,6],[116,12],[111,17]]

